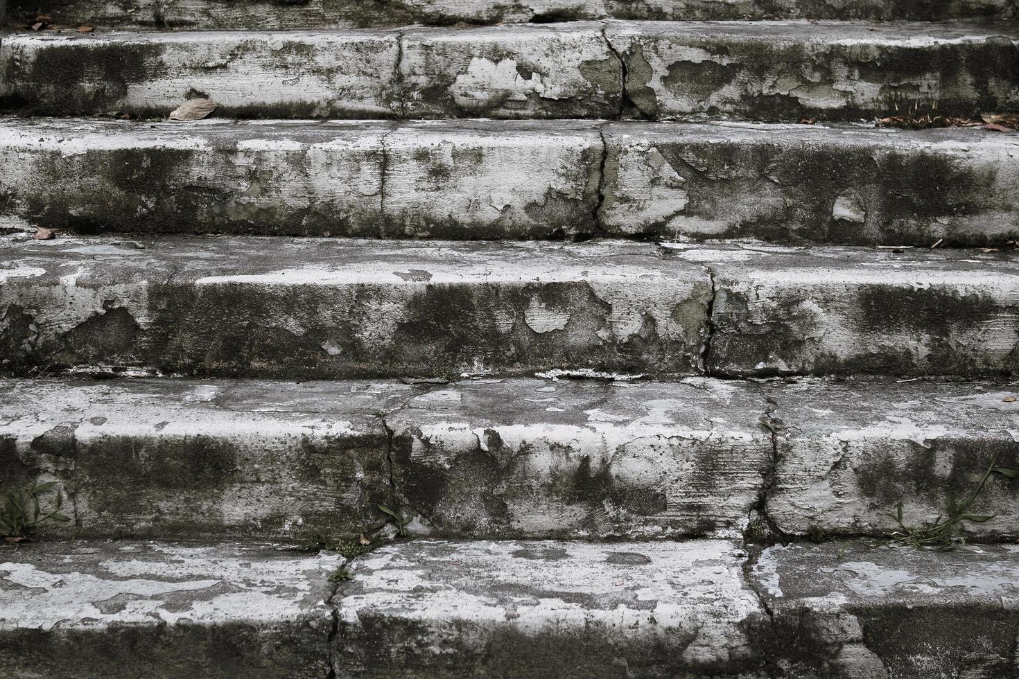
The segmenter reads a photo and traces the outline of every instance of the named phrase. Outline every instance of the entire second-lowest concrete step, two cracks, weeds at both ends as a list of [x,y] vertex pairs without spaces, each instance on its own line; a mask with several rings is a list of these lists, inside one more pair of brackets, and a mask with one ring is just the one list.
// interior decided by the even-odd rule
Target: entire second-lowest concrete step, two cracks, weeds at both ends
[[[993,461],[1019,468],[1006,382],[0,387],[0,491],[56,482],[72,521],[49,539],[332,542],[380,504],[442,537],[881,537],[900,502],[920,526]],[[1017,491],[987,479],[970,539],[1019,537]]]

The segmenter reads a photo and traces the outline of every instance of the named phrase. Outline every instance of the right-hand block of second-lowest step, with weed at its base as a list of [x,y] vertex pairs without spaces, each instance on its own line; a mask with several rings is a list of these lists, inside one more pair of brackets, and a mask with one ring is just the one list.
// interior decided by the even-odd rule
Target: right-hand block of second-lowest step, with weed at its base
[[[777,464],[767,515],[790,534],[881,535],[946,515],[950,492],[969,497],[993,461],[1019,468],[1015,386],[953,382],[768,384]],[[991,474],[964,522],[984,540],[1019,537],[1019,480]]]

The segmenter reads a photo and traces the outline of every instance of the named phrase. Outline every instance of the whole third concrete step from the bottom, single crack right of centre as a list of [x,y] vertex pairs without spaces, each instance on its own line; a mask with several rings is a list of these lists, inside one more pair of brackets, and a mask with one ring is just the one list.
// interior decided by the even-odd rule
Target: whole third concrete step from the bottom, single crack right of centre
[[0,366],[195,376],[1008,375],[1019,252],[0,241]]

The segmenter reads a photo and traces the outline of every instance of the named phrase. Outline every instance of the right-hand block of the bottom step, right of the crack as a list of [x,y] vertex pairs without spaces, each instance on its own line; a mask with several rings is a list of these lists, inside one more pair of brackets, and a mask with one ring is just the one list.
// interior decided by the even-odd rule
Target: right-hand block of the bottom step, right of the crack
[[751,571],[782,676],[1007,679],[1019,672],[1019,547],[773,547]]

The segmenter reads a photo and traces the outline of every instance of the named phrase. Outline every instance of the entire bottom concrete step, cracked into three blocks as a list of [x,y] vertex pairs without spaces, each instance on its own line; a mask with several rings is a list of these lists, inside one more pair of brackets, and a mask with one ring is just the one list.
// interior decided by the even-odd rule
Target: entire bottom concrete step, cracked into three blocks
[[[1014,676],[1019,548],[415,541],[0,551],[17,677]],[[332,676],[331,674],[329,676]]]

